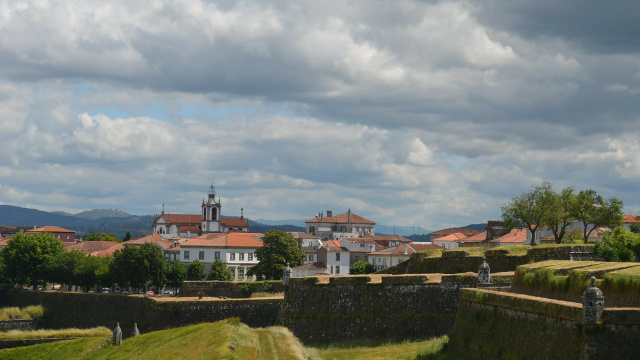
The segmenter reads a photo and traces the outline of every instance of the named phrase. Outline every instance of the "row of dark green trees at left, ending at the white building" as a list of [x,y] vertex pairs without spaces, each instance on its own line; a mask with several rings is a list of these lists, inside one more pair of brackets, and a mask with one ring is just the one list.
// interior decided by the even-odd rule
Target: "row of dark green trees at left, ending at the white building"
[[[216,268],[216,274],[228,280],[226,264]],[[213,272],[213,271],[212,271]],[[212,277],[210,274],[210,277]],[[0,251],[0,277],[3,282],[29,285],[36,289],[46,283],[67,287],[146,289],[178,288],[184,280],[205,277],[203,265],[192,262],[185,268],[180,262],[169,263],[162,249],[152,243],[125,245],[111,256],[88,256],[79,250],[66,251],[59,239],[49,233],[16,234]]]

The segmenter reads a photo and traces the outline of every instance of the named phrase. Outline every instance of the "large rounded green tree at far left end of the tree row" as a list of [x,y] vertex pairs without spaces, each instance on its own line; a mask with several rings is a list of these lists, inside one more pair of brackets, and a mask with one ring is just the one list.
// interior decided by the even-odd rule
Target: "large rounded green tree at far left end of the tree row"
[[0,251],[0,257],[7,278],[15,284],[30,284],[35,290],[38,282],[50,275],[49,259],[63,251],[60,239],[50,233],[19,233]]

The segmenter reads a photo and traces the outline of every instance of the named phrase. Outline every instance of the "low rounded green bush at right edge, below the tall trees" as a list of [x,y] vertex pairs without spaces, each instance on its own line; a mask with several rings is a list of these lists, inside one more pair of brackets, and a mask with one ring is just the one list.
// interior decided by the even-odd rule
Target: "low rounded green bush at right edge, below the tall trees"
[[618,227],[606,232],[603,242],[596,243],[593,252],[606,261],[634,261],[640,254],[640,234]]

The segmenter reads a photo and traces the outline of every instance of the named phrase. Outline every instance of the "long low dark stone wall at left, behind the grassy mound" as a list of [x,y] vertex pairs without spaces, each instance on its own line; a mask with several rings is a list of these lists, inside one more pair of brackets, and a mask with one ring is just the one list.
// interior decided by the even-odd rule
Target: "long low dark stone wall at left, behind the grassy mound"
[[275,324],[281,299],[156,301],[143,296],[0,289],[1,306],[42,305],[53,329],[115,327],[141,332],[239,317],[249,326]]

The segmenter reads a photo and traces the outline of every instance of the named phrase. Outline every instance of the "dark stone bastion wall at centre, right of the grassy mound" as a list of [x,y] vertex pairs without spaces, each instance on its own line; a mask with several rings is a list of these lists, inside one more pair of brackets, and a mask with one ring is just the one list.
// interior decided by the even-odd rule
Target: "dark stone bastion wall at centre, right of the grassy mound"
[[[339,281],[338,281],[339,279]],[[330,284],[292,279],[278,325],[286,326],[304,344],[403,341],[442,336],[453,327],[458,291],[474,286],[424,283],[407,278],[382,283],[336,278]],[[403,283],[404,282],[404,283]]]

